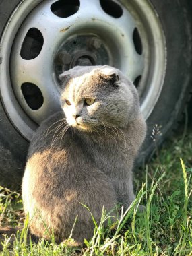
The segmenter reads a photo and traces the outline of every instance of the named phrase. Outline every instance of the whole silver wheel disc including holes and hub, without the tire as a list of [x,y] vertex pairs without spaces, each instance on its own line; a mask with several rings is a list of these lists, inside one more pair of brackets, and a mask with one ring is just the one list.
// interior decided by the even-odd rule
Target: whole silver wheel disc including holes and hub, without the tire
[[149,1],[21,1],[0,49],[1,101],[29,141],[61,108],[58,76],[75,65],[120,69],[137,86],[146,119],[164,82],[166,44]]

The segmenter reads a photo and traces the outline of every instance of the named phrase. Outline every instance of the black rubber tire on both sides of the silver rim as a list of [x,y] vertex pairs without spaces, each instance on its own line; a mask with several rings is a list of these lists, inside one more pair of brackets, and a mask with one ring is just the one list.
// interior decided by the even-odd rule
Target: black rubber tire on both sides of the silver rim
[[[0,0],[0,36],[19,2]],[[167,67],[160,98],[147,121],[148,135],[137,159],[139,164],[154,150],[150,138],[154,125],[162,126],[162,136],[157,141],[160,144],[176,125],[191,89],[191,1],[151,0],[151,3],[166,37]],[[20,188],[27,150],[28,142],[13,127],[0,102],[0,185]]]

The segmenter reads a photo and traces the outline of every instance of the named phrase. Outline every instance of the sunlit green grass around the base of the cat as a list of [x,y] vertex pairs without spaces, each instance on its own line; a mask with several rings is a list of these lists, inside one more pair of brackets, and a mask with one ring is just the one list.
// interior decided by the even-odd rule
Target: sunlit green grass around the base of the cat
[[[182,159],[183,160],[182,160]],[[22,199],[17,192],[1,188],[0,224],[24,229],[1,242],[0,255],[192,255],[192,131],[185,138],[177,136],[164,144],[142,174],[135,175],[137,199],[125,214],[120,213],[117,226],[103,212],[92,240],[84,248],[57,245],[44,239],[33,243],[27,239]],[[143,212],[138,203],[146,205]],[[103,222],[108,220],[108,228]]]

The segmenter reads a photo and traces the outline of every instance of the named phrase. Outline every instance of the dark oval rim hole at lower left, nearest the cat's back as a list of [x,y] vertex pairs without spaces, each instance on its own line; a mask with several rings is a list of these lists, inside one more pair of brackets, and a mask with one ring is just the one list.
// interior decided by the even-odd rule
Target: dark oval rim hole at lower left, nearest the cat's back
[[28,106],[32,110],[38,110],[44,102],[42,92],[38,86],[26,82],[22,84],[21,89]]

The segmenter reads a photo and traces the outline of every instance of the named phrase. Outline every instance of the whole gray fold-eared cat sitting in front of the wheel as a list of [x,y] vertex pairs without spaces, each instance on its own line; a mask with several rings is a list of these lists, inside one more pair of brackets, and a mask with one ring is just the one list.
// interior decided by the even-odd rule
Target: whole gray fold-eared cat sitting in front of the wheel
[[94,230],[83,205],[99,222],[103,206],[129,207],[135,199],[131,170],[146,123],[137,90],[118,69],[74,67],[61,80],[63,111],[30,143],[22,197],[32,234],[49,239],[54,232],[60,242],[73,228],[74,245],[82,245]]

